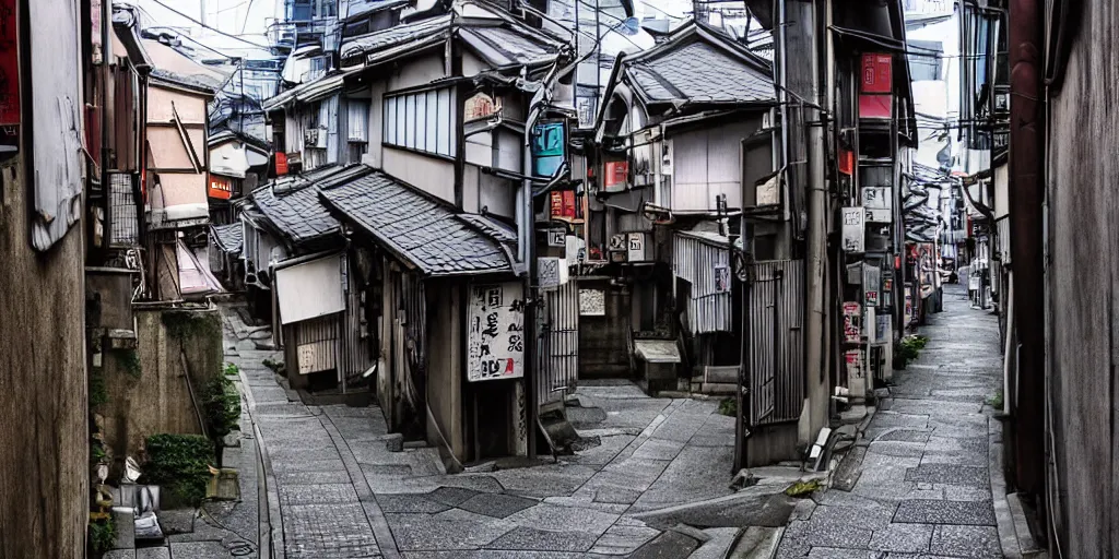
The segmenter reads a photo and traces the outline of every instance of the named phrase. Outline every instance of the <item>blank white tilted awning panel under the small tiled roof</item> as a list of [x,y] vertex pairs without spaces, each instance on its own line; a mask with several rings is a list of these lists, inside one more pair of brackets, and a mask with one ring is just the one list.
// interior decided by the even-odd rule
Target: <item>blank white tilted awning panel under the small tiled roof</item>
[[275,286],[283,324],[346,310],[341,254],[281,262],[275,268]]

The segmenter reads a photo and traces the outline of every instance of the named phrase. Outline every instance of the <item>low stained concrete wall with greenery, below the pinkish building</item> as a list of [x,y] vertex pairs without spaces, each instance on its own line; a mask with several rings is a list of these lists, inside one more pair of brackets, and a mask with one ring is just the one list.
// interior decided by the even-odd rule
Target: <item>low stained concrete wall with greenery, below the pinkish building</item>
[[[135,314],[139,375],[128,370],[120,351],[106,352],[101,370],[94,371],[105,379],[109,402],[95,411],[105,418],[105,443],[116,462],[137,456],[150,435],[201,434],[187,373],[195,398],[201,397],[209,378],[222,373],[217,311],[138,309]],[[170,328],[164,314],[171,316],[167,319],[173,324]]]

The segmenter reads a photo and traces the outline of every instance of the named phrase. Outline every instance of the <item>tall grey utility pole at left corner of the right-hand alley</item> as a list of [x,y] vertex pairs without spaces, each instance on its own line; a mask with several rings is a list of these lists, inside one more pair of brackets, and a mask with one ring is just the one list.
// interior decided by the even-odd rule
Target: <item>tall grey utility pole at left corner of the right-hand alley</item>
[[[824,0],[826,2],[827,0]],[[788,95],[789,195],[793,237],[805,243],[805,370],[807,425],[801,438],[816,436],[828,425],[828,203],[824,171],[826,150],[820,106],[820,51],[816,0],[779,1],[780,30],[784,39],[781,72]],[[826,3],[825,3],[826,6]],[[792,64],[786,64],[790,60]],[[791,240],[791,239],[790,239]],[[797,252],[793,250],[793,254]],[[808,433],[803,432],[807,427]]]

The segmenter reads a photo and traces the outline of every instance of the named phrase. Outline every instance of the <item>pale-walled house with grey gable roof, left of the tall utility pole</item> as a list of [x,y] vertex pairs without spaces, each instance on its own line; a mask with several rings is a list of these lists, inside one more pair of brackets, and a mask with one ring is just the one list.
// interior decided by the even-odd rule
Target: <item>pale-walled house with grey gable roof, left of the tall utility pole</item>
[[[608,304],[585,321],[581,373],[667,360],[679,363],[675,372],[639,364],[657,371],[642,375],[650,390],[676,389],[677,377],[686,389],[693,377],[730,389],[741,359],[731,268],[741,231],[731,217],[755,203],[743,200],[743,180],[775,170],[770,64],[689,22],[620,57],[606,93],[579,228],[587,247],[579,285]],[[604,331],[592,338],[592,323]]]

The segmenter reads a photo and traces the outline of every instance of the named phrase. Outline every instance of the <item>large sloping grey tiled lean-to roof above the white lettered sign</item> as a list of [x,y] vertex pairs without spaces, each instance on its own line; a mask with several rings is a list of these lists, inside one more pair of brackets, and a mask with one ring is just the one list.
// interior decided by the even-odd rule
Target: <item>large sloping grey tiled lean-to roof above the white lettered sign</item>
[[383,171],[370,169],[368,174],[323,188],[321,198],[425,275],[511,271],[497,240],[446,205]]

